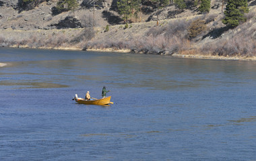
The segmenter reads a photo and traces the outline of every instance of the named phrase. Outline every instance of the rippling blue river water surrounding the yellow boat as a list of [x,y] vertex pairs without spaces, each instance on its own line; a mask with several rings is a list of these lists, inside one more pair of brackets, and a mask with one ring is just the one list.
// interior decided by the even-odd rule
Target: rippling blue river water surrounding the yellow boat
[[[0,160],[256,160],[256,62],[0,48]],[[110,106],[71,99],[111,90]]]

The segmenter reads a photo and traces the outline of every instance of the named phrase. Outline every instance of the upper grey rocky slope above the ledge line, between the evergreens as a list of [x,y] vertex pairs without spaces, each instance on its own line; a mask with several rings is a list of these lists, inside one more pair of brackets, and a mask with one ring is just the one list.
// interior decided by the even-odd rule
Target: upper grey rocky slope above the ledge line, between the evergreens
[[[32,7],[31,9],[22,9],[19,6],[19,0],[0,0],[0,29],[11,28],[13,30],[49,30],[61,28],[83,28],[93,19],[96,26],[117,25],[123,23],[123,20],[116,11],[116,0],[83,0],[78,1],[79,7],[73,11],[66,11],[55,14],[54,7],[57,0],[44,1]],[[93,7],[96,5],[96,7]],[[211,12],[220,13],[220,2],[212,1]],[[156,21],[158,19],[174,19],[198,15],[196,7],[177,9],[174,5],[164,7],[159,11],[150,6],[142,7],[142,14],[139,14],[140,21]],[[74,15],[74,16],[73,16]],[[67,18],[72,16],[73,19]],[[135,21],[134,18],[131,19]],[[69,24],[68,24],[69,23]]]

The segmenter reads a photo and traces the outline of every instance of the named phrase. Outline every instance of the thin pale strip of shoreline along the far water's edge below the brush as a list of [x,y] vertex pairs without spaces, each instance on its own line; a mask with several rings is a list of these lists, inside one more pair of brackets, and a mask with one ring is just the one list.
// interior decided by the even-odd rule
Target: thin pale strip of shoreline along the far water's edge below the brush
[[[5,48],[5,47],[3,47]],[[30,48],[28,46],[10,46],[9,48]],[[36,49],[36,48],[34,48]],[[78,50],[82,51],[83,48],[77,47],[57,47],[57,48],[49,48],[49,47],[40,47],[38,49],[50,49],[50,50]],[[88,48],[84,51],[88,52],[120,52],[120,53],[135,53],[135,54],[143,54],[141,52],[132,52],[130,49],[116,49],[116,48]],[[160,56],[172,56],[174,58],[195,58],[195,59],[205,59],[205,60],[239,60],[239,61],[256,61],[256,56],[246,57],[246,56],[213,56],[211,54],[185,54],[186,52],[176,53],[172,55],[164,55],[164,54],[156,54]],[[0,63],[0,67],[6,66],[5,63]]]

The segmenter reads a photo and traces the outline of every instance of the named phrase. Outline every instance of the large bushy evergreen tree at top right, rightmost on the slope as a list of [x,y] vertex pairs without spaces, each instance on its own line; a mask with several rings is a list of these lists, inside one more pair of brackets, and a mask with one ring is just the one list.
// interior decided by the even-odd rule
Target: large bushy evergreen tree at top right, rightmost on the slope
[[245,13],[248,12],[247,0],[228,0],[226,11],[224,11],[225,18],[222,19],[222,23],[234,28],[239,23],[246,21]]

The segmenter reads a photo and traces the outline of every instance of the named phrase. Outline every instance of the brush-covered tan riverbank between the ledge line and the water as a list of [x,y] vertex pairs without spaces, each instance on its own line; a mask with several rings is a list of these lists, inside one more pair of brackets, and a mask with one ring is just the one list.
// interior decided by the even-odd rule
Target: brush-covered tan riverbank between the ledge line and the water
[[[144,23],[61,30],[0,30],[0,46],[94,52],[134,52],[179,58],[256,60],[256,9],[247,22],[226,28],[221,14],[197,15]],[[198,20],[207,30],[189,30]],[[199,22],[198,22],[199,23]],[[197,23],[196,23],[197,24]],[[196,27],[196,26],[194,26]],[[250,43],[248,43],[250,42]]]

